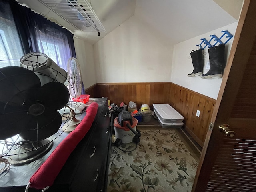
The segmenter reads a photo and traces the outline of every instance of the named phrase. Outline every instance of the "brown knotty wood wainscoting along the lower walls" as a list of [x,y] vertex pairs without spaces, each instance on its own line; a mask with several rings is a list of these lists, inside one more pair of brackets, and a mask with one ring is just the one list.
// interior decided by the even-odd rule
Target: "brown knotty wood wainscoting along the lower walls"
[[[119,105],[133,101],[142,104],[167,103],[184,117],[184,128],[203,146],[216,100],[170,82],[160,83],[98,83],[86,90],[93,97],[108,97]],[[91,96],[92,97],[92,96]],[[196,116],[200,110],[200,116]]]

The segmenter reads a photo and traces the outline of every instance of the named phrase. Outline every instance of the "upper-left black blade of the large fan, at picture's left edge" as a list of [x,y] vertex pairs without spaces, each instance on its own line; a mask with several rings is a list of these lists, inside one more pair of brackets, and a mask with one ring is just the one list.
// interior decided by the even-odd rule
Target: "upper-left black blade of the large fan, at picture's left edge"
[[0,68],[0,102],[6,103],[24,90],[40,87],[38,76],[26,68],[16,66]]

